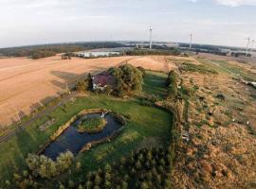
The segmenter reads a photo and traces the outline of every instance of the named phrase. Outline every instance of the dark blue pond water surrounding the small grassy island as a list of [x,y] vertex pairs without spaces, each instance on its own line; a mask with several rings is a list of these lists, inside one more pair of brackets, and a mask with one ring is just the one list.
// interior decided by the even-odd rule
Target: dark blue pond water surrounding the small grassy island
[[52,142],[49,146],[46,146],[46,149],[43,151],[43,155],[52,160],[56,160],[60,153],[67,150],[71,151],[73,154],[77,154],[83,146],[93,141],[99,141],[108,136],[111,136],[116,130],[121,127],[121,124],[118,120],[107,113],[105,119],[107,124],[105,128],[100,133],[88,134],[80,133],[77,131],[76,126],[84,118],[100,117],[101,113],[88,113],[82,116],[82,118],[73,122],[68,129],[65,129],[64,132]]

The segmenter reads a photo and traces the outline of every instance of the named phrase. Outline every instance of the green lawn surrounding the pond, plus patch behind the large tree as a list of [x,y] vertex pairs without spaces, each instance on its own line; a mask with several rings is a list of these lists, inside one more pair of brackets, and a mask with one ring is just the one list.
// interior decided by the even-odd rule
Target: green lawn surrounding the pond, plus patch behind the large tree
[[[166,92],[162,89],[164,81],[164,76],[147,76],[143,92],[165,94]],[[78,97],[74,102],[68,102],[64,107],[50,112],[27,129],[21,130],[8,142],[0,145],[0,180],[2,181],[0,184],[12,178],[15,171],[24,169],[27,153],[37,152],[42,148],[52,133],[66,123],[70,117],[83,109],[97,108],[129,115],[131,119],[128,120],[125,129],[111,143],[93,147],[90,151],[77,156],[76,161],[82,163],[82,170],[85,172],[104,163],[118,161],[121,156],[129,154],[141,144],[143,146],[166,146],[170,141],[173,115],[169,112],[141,106],[139,101],[134,98],[119,99],[95,94]],[[39,131],[38,127],[52,117],[56,119],[55,124],[44,132]]]

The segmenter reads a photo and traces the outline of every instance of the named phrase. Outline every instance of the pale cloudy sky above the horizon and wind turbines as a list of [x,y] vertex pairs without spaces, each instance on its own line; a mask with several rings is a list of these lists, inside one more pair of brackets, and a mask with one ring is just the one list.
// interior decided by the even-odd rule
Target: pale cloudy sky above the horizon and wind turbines
[[247,45],[256,0],[0,0],[0,47],[88,41]]

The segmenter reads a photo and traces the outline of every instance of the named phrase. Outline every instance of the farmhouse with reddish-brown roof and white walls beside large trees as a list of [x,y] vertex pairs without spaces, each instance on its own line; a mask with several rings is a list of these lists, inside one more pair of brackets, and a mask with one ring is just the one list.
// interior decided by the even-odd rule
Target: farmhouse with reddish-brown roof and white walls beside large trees
[[111,76],[108,72],[101,72],[101,74],[92,77],[93,90],[100,89],[103,91],[107,86],[113,86],[116,82],[115,77]]

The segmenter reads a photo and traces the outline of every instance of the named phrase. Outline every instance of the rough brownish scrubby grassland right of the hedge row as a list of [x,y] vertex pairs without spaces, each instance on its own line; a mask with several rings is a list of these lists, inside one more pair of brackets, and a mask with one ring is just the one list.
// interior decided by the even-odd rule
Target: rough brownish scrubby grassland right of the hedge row
[[177,152],[174,188],[255,188],[256,90],[233,79],[255,74],[226,57],[198,61],[217,74],[180,74],[192,92],[186,127],[192,140]]

